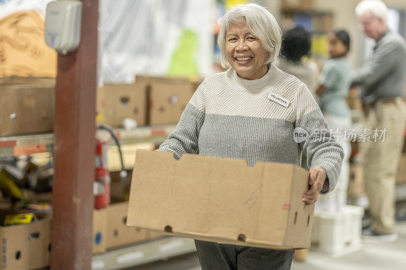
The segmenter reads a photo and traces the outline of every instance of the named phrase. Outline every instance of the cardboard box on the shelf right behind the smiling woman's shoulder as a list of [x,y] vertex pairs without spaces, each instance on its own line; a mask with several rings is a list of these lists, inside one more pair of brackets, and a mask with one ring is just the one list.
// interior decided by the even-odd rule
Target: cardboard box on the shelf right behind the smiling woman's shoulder
[[148,123],[177,124],[195,90],[189,80],[150,78]]

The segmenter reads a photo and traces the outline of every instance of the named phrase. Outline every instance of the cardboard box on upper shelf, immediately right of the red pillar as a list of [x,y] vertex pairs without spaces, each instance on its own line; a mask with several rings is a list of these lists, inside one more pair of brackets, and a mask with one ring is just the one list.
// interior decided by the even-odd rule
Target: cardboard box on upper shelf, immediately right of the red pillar
[[132,118],[139,126],[147,122],[147,84],[104,85],[97,88],[96,111],[99,121],[113,128],[121,127],[125,118]]

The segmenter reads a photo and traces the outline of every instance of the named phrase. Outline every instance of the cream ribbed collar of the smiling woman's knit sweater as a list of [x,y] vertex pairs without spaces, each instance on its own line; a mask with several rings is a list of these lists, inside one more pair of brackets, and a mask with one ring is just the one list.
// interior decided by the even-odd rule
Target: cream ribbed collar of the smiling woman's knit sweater
[[227,70],[226,78],[230,86],[240,91],[258,93],[274,85],[281,76],[281,71],[274,65],[270,64],[268,72],[257,80],[245,80],[239,77],[232,67]]

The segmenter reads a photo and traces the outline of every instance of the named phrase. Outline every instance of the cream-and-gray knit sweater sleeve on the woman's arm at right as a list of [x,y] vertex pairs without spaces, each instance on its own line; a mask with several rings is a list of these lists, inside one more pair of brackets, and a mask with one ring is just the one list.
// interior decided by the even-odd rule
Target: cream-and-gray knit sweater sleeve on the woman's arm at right
[[301,149],[307,155],[309,168],[322,167],[327,173],[321,194],[334,189],[341,172],[344,150],[330,135],[323,114],[316,100],[302,85],[295,97],[296,121],[295,129],[301,128],[308,134],[306,140],[299,142]]

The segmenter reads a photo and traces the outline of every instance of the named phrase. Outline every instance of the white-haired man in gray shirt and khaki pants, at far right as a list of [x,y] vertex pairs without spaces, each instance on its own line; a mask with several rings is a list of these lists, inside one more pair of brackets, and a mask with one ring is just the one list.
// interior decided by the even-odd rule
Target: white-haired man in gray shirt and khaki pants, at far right
[[[363,33],[376,41],[374,53],[353,75],[361,89],[365,128],[385,132],[383,139],[361,143],[365,191],[372,218],[364,239],[394,241],[395,176],[406,125],[406,43],[388,29],[388,8],[380,0],[364,0],[355,9]],[[382,133],[381,133],[382,134]],[[372,135],[371,135],[372,137]]]

